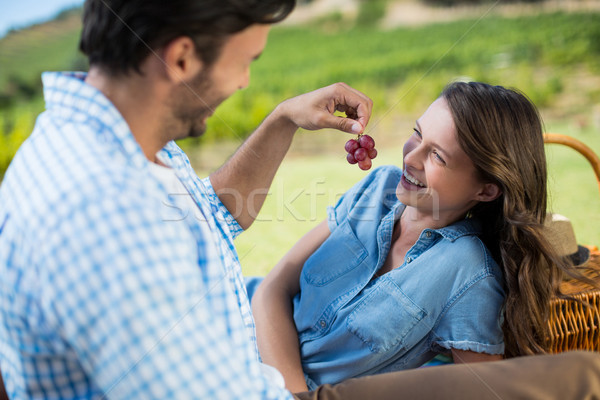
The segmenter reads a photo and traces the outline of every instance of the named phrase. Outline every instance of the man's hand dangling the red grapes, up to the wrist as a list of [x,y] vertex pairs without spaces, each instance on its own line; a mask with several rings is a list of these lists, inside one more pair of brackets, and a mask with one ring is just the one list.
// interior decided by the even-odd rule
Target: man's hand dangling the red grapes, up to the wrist
[[[369,123],[373,101],[345,83],[333,85],[284,101],[276,112],[306,130],[333,128],[359,134]],[[346,113],[346,118],[334,115]]]

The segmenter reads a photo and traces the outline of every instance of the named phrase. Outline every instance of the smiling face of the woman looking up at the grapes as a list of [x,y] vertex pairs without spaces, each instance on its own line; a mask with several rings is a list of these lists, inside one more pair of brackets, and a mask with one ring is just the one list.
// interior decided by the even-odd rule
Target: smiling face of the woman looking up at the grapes
[[415,123],[404,144],[402,179],[396,196],[407,206],[448,224],[485,200],[486,185],[460,148],[446,100],[439,98]]

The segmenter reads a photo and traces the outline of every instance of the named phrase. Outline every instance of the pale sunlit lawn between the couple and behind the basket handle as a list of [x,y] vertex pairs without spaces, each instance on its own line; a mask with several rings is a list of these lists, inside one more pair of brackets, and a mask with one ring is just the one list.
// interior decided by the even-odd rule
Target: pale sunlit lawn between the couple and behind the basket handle
[[[380,124],[386,125],[386,121]],[[600,155],[600,135],[593,129],[558,122],[548,123],[547,130],[577,138]],[[396,133],[395,139],[384,139],[385,144],[378,145],[380,152],[374,166],[399,165],[405,137]],[[302,235],[326,218],[327,206],[334,205],[368,173],[346,163],[343,151],[346,139],[343,134],[333,132],[300,132],[275,177],[257,221],[235,241],[246,275],[265,275],[270,271]],[[579,243],[600,246],[600,193],[591,166],[570,148],[547,145],[546,150],[549,210],[571,219]],[[215,148],[209,146],[197,151],[209,153]],[[191,154],[196,164],[194,156],[198,153]],[[199,171],[201,175],[207,172]]]

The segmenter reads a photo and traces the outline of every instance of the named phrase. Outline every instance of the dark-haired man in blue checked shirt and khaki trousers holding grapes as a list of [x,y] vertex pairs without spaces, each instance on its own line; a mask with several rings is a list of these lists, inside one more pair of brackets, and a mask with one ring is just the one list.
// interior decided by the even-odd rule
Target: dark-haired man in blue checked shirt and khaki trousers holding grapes
[[[0,370],[12,398],[292,397],[258,361],[232,240],[252,223],[298,127],[359,133],[372,103],[344,84],[287,100],[204,180],[173,140],[202,134],[248,85],[268,24],[293,4],[86,2],[89,73],[44,74],[47,111],[0,188]],[[489,364],[299,396],[600,391],[591,355]],[[550,392],[540,367],[576,376]],[[513,378],[525,386],[506,388]]]

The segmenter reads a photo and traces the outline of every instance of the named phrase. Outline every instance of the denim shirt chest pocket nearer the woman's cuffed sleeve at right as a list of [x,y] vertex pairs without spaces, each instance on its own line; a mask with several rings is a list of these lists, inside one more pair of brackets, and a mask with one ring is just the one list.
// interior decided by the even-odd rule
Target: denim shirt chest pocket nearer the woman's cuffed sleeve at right
[[[416,330],[427,312],[409,298],[393,281],[380,278],[373,291],[348,315],[348,330],[360,338],[373,353],[392,348],[412,347],[407,338]],[[420,340],[422,335],[418,336]],[[416,339],[408,340],[415,341]],[[418,341],[417,340],[417,341]]]

